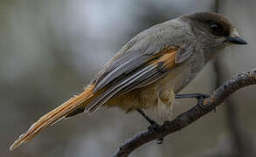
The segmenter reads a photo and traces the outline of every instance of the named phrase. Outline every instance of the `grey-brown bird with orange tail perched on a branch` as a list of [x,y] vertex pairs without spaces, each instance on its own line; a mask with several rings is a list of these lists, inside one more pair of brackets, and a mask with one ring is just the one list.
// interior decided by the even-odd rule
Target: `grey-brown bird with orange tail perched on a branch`
[[204,65],[232,44],[247,44],[234,24],[214,12],[195,12],[146,29],[114,55],[86,85],[83,92],[46,113],[10,146],[10,150],[34,138],[60,119],[94,113],[102,107],[119,107],[125,113],[173,106],[174,99],[207,97],[179,92]]

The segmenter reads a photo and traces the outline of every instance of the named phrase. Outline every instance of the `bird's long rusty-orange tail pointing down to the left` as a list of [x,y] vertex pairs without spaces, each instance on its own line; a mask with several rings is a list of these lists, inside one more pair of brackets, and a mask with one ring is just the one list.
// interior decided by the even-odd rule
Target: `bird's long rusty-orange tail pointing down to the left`
[[13,150],[28,140],[31,140],[47,126],[51,126],[58,120],[65,118],[66,115],[72,113],[74,110],[81,106],[86,106],[86,99],[93,97],[93,88],[94,85],[88,85],[85,91],[80,93],[80,95],[74,96],[72,99],[67,100],[64,104],[52,110],[52,112],[47,113],[38,119],[38,121],[35,122],[26,133],[19,136],[19,138],[10,146],[10,150]]

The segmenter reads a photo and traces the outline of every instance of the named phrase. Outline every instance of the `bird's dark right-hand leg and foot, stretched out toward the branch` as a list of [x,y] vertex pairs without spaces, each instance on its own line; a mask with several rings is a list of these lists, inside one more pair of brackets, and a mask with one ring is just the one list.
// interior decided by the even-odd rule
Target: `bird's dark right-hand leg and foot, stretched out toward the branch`
[[203,100],[206,98],[209,98],[209,97],[210,97],[210,95],[208,95],[208,94],[190,93],[190,94],[176,94],[175,99],[196,98],[197,106],[204,108]]

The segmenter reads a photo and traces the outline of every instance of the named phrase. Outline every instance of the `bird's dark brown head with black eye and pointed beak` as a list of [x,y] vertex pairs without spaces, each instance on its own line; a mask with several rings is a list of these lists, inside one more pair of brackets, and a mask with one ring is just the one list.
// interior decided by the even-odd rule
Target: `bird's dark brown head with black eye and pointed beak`
[[191,29],[205,49],[225,47],[229,44],[247,44],[232,22],[217,13],[197,12],[181,17],[191,25]]

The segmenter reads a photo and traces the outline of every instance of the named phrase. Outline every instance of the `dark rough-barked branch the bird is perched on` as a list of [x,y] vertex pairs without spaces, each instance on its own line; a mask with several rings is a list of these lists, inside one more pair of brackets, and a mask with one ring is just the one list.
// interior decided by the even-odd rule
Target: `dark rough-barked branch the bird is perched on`
[[197,119],[213,111],[214,108],[225,101],[225,99],[227,99],[233,92],[253,84],[256,84],[256,69],[241,73],[238,76],[231,78],[223,85],[220,85],[218,89],[211,94],[210,98],[204,99],[204,108],[193,106],[189,111],[181,113],[172,121],[165,121],[163,125],[156,127],[154,130],[146,130],[135,134],[133,138],[125,140],[112,156],[128,156],[128,154],[131,154],[137,147],[141,147],[151,140],[163,138],[170,133],[175,133],[186,126],[189,126]]

